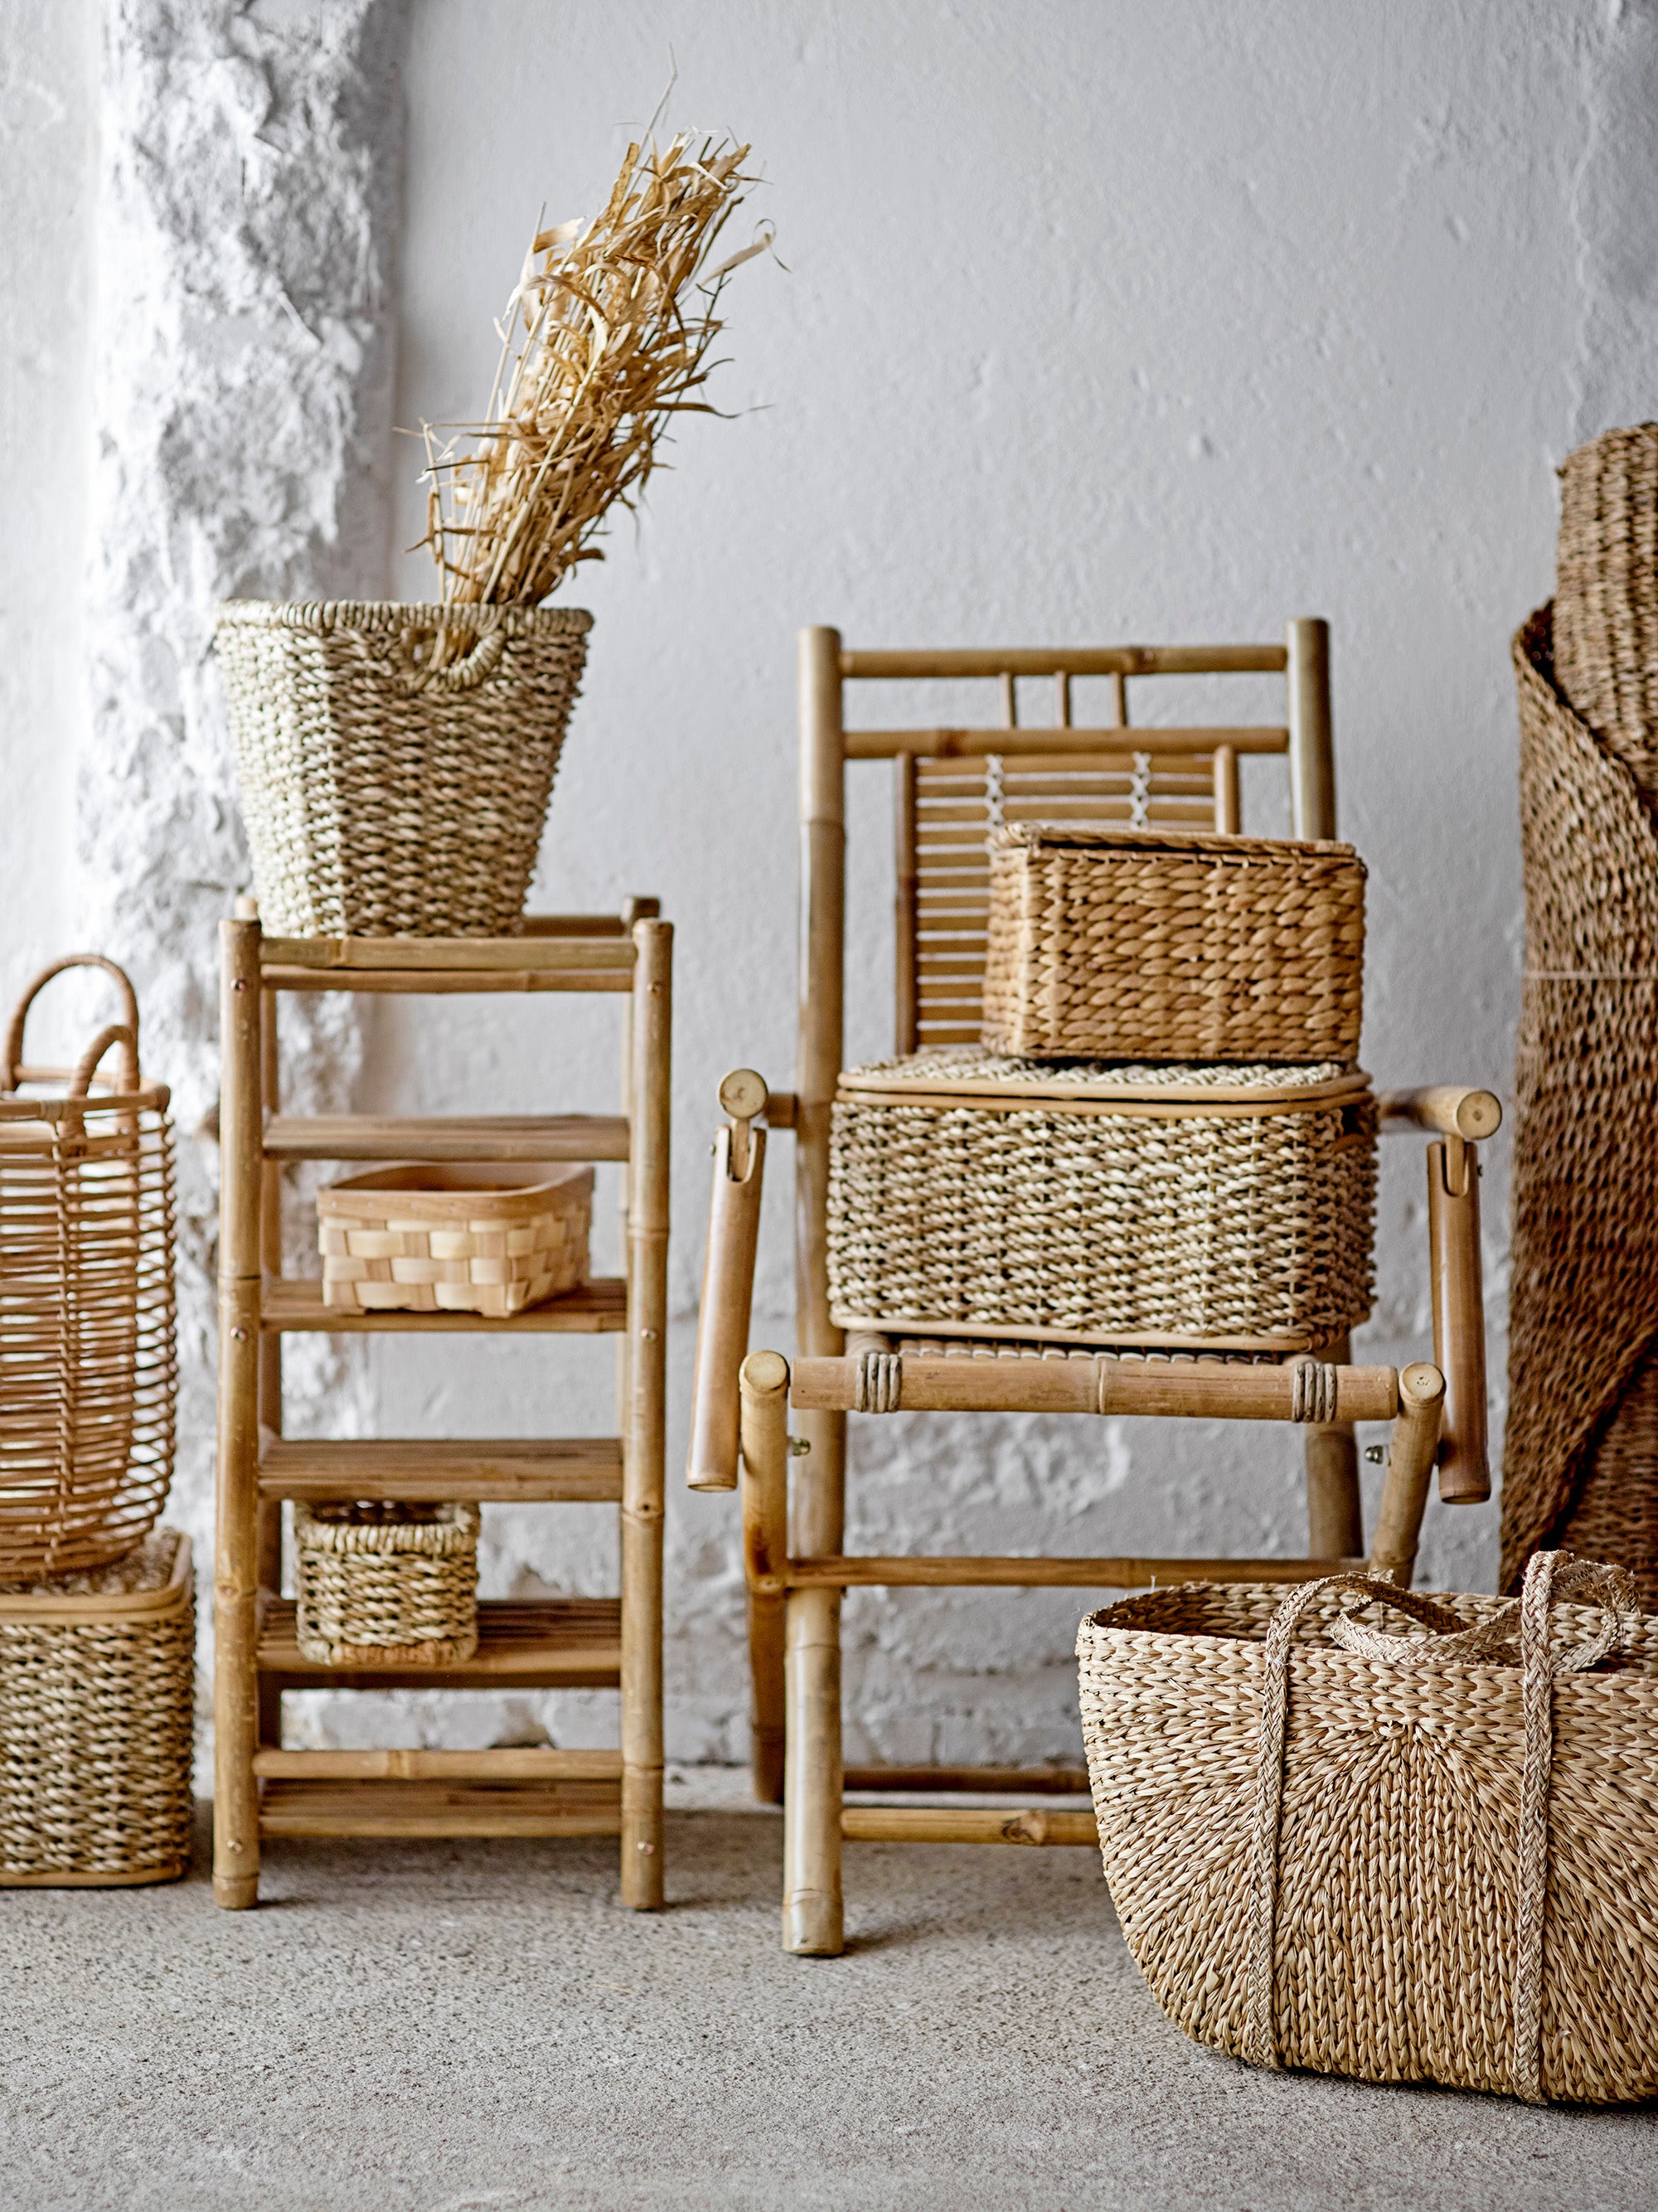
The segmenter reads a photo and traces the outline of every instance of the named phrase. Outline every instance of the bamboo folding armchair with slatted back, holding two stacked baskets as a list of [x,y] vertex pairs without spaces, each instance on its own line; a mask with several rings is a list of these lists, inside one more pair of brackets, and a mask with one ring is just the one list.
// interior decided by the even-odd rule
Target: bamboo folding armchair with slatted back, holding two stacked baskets
[[[1287,679],[1280,728],[1150,726],[1130,730],[1127,684],[1163,675]],[[847,684],[986,677],[1001,688],[990,728],[849,730]],[[1054,684],[1054,723],[1021,728],[1017,681]],[[1072,684],[1108,677],[1112,721],[1072,721]],[[796,1091],[774,1093],[738,1068],[721,1084],[730,1121],[714,1148],[714,1210],[696,1347],[692,1489],[743,1486],[743,1548],[754,1697],[754,1787],[785,1805],[785,1949],[842,1949],[844,1838],[959,1843],[1094,1843],[1092,1814],[1043,1807],[873,1807],[851,1792],[1083,1790],[1070,1770],[842,1767],[840,1595],[882,1586],[1143,1588],[1161,1579],[1309,1582],[1368,1566],[1408,1584],[1437,1464],[1444,1502],[1490,1495],[1486,1467],[1486,1336],[1479,1270],[1477,1139],[1501,1106],[1488,1091],[1384,1093],[1382,1126],[1426,1130],[1435,1363],[1355,1367],[1346,1338],[1284,1363],[1147,1360],[1127,1349],[997,1343],[970,1347],[842,1336],[829,1312],[829,1110],[842,1066],[847,763],[891,761],[895,790],[898,1053],[977,1044],[984,975],[990,810],[1008,821],[1088,821],[1240,830],[1245,754],[1289,765],[1295,836],[1335,834],[1329,630],[1291,622],[1284,646],[1103,650],[849,653],[840,635],[800,637],[802,960]],[[794,1365],[745,1358],[767,1128],[796,1139]],[[962,1352],[995,1356],[962,1356]],[[789,1409],[800,1436],[789,1436]],[[1309,1557],[1304,1559],[966,1559],[847,1557],[849,1411],[1074,1411],[1289,1420],[1304,1429]],[[1353,1422],[1391,1422],[1377,1528],[1362,1537]],[[789,1462],[798,1455],[794,1500]]]

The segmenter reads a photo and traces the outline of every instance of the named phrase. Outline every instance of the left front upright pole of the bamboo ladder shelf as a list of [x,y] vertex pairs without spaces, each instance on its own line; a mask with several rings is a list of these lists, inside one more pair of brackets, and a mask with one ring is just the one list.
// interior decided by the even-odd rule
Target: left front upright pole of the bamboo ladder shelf
[[259,922],[219,925],[219,1467],[212,1573],[212,1893],[259,1902]]

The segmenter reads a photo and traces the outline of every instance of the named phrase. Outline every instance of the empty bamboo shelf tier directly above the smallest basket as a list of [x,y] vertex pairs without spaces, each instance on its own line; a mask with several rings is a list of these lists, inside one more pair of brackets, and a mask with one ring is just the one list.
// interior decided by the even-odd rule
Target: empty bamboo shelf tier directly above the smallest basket
[[259,1455],[261,1498],[369,1498],[442,1504],[617,1504],[621,1440],[555,1438],[349,1438],[270,1436]]

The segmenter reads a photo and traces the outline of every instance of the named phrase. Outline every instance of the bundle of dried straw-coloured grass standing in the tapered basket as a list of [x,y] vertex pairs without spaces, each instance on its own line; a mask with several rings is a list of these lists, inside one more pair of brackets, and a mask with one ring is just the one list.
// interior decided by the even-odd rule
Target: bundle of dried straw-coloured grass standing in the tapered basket
[[754,177],[732,139],[628,146],[592,221],[542,230],[497,323],[502,358],[484,422],[427,438],[431,546],[444,606],[535,606],[584,560],[612,507],[634,507],[674,414],[714,363],[725,279],[769,230],[710,268]]

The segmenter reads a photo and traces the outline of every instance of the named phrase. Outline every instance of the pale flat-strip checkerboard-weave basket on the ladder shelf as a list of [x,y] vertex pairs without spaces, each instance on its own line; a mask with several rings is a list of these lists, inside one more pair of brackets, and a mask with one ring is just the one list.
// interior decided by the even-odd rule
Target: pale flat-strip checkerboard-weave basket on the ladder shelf
[[316,1194],[323,1303],[517,1314],[586,1281],[592,1168],[411,1166]]

